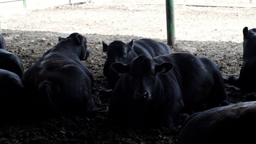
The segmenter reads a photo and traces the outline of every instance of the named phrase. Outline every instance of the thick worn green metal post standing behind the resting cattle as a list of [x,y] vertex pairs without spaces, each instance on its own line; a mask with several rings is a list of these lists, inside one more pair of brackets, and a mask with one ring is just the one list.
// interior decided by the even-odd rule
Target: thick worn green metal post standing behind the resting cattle
[[173,0],[166,0],[167,44],[175,44],[175,23]]

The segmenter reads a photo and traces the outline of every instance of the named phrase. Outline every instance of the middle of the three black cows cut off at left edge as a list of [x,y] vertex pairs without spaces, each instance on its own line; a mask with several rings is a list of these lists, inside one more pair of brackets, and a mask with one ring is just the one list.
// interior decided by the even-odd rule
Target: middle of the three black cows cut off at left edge
[[0,49],[0,68],[14,72],[20,78],[22,78],[24,73],[24,67],[20,58],[5,49]]

